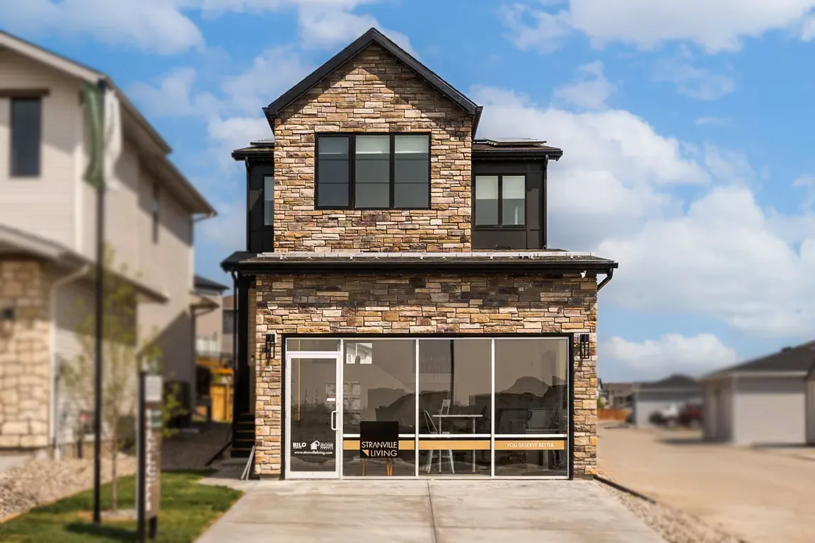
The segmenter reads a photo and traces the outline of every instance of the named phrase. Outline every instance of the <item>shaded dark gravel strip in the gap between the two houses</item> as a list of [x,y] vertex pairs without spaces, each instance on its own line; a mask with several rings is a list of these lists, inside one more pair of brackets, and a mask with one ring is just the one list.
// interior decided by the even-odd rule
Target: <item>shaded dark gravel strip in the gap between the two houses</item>
[[229,439],[229,423],[196,426],[198,433],[178,432],[161,447],[162,470],[201,470]]

